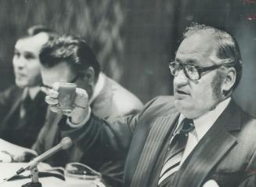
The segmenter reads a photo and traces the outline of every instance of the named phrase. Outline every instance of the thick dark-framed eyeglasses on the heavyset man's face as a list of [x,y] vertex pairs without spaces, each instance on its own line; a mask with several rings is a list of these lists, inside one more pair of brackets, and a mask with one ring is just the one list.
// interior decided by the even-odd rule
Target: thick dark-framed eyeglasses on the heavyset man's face
[[190,80],[199,80],[201,78],[201,74],[208,70],[215,70],[219,67],[233,67],[236,63],[222,63],[218,65],[214,65],[211,67],[198,67],[197,65],[187,64],[187,63],[178,63],[177,61],[172,61],[169,63],[169,69],[173,76],[178,76],[178,71],[183,70],[186,77]]

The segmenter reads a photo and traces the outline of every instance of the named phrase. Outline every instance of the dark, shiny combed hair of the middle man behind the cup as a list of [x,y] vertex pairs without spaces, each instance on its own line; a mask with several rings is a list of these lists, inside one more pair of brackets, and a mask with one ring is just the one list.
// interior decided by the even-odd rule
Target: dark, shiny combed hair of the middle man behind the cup
[[81,38],[63,35],[47,42],[39,54],[41,65],[51,68],[59,63],[67,63],[78,75],[92,67],[99,76],[99,62],[88,44]]

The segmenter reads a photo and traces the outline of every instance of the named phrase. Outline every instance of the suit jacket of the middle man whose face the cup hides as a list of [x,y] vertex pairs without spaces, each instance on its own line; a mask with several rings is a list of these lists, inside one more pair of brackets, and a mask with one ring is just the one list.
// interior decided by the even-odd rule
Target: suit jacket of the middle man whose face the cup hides
[[[142,109],[142,102],[131,92],[118,85],[117,82],[106,77],[103,89],[92,102],[91,108],[92,112],[98,117],[107,119],[109,117],[121,117],[131,113],[138,113]],[[56,146],[63,137],[58,124],[60,120],[66,121],[66,118],[62,119],[62,115],[50,111],[47,116],[47,121],[33,146],[33,149],[39,154],[52,148],[52,146]],[[113,160],[112,158],[101,156],[101,154],[96,147],[84,152],[78,147],[72,146],[70,150],[61,151],[50,157],[46,162],[53,166],[63,166],[69,162],[80,161],[100,171],[104,179],[108,181],[106,183],[119,186],[124,170],[124,159]]]

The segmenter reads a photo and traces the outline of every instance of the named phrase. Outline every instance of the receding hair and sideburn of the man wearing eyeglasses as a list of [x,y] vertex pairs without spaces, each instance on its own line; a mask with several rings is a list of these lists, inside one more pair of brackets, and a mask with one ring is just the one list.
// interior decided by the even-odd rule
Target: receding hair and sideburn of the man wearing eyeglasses
[[191,26],[187,27],[183,37],[184,39],[189,38],[194,34],[208,34],[215,38],[215,41],[217,41],[215,56],[218,59],[227,60],[230,63],[235,63],[234,67],[236,69],[236,81],[233,85],[234,90],[240,82],[243,70],[240,48],[236,39],[225,31],[221,31],[214,27],[198,23],[193,23]]

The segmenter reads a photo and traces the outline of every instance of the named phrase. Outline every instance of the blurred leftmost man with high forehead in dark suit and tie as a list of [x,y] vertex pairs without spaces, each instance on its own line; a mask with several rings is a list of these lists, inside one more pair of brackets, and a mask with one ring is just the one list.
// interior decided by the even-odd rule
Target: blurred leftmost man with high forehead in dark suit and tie
[[31,148],[45,122],[45,93],[40,91],[39,52],[52,31],[34,26],[16,41],[13,55],[15,83],[0,93],[0,138]]

